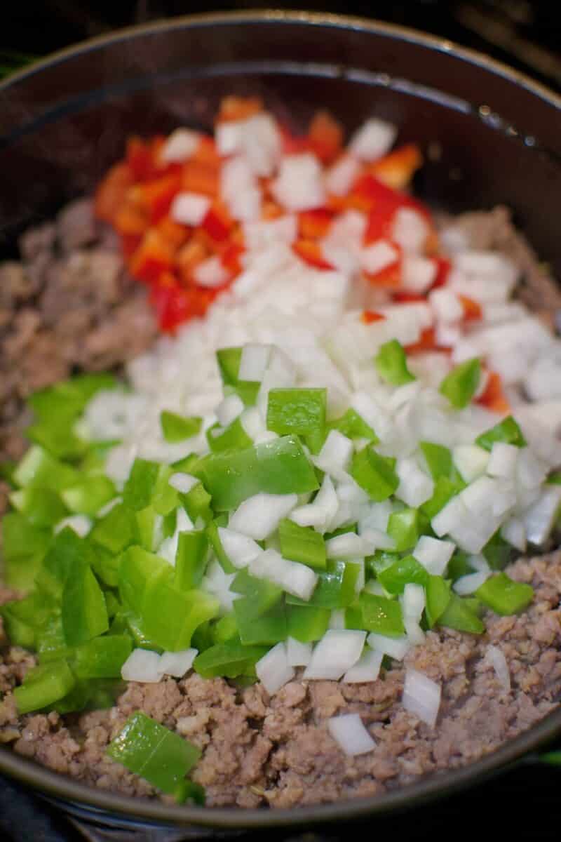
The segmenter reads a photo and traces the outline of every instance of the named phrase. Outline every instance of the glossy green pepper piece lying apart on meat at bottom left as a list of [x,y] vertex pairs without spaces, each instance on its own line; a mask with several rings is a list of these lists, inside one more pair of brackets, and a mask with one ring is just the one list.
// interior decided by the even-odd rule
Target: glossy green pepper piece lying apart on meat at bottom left
[[162,792],[184,794],[183,779],[201,750],[179,734],[136,711],[108,745],[106,754]]

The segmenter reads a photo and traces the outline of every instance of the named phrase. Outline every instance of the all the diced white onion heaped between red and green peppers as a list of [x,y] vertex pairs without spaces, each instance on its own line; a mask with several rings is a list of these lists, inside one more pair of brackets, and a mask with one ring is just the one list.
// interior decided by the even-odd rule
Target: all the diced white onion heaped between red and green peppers
[[[325,201],[325,191],[345,195],[364,161],[389,152],[396,131],[381,120],[369,120],[352,138],[347,153],[327,172],[310,152],[282,155],[275,121],[259,115],[219,128],[217,145],[227,163],[222,168],[222,191],[230,214],[243,225],[244,268],[204,319],[195,319],[166,337],[127,370],[130,392],[101,392],[87,407],[83,429],[94,440],[120,440],[106,463],[109,477],[122,487],[136,457],[172,463],[188,452],[209,452],[205,432],[214,424],[225,428],[239,418],[256,444],[277,436],[267,429],[267,395],[276,387],[326,387],[328,418],[347,408],[375,431],[376,450],[396,459],[400,485],[394,496],[373,503],[349,473],[352,456],[364,440],[351,440],[332,431],[320,452],[310,460],[324,472],[314,497],[258,494],[230,513],[220,540],[236,568],[279,584],[302,600],[310,599],[316,574],[284,559],[278,552],[275,531],[283,518],[311,526],[325,534],[357,523],[357,532],[327,541],[328,557],[343,558],[364,568],[365,557],[376,550],[391,550],[386,528],[390,514],[406,504],[418,508],[431,498],[434,483],[423,460],[419,442],[430,440],[452,450],[454,466],[467,487],[432,520],[436,538],[422,536],[413,550],[429,573],[442,575],[456,547],[470,556],[474,573],[454,584],[457,594],[473,594],[490,576],[481,551],[497,530],[525,552],[541,546],[550,536],[561,502],[561,488],[545,484],[548,473],[561,461],[561,342],[521,303],[511,301],[518,280],[516,266],[498,253],[474,251],[453,225],[441,232],[441,248],[451,264],[444,285],[433,287],[437,265],[426,253],[428,230],[421,213],[400,211],[388,237],[363,244],[368,224],[360,210],[337,216],[321,242],[330,268],[315,268],[291,248],[297,237],[295,213],[314,209]],[[193,138],[178,131],[167,141],[164,154],[177,160],[188,154]],[[271,221],[259,218],[257,179],[274,174],[274,193],[286,209]],[[179,195],[172,207],[177,221],[193,225],[208,205],[195,195]],[[384,289],[364,283],[363,271],[376,274],[400,259],[401,289],[417,296],[394,301]],[[219,283],[220,264],[198,269],[199,282]],[[466,319],[463,299],[479,306],[479,317]],[[421,300],[422,299],[422,300]],[[375,311],[375,317],[364,313]],[[435,347],[415,349],[427,330]],[[415,381],[389,386],[373,365],[373,357],[389,339],[415,349],[408,365]],[[223,397],[215,351],[244,345],[240,378],[259,381],[255,407],[245,407],[237,396]],[[453,365],[479,357],[484,374],[475,395],[462,410],[450,408],[438,386]],[[528,446],[499,444],[484,450],[475,444],[500,414],[479,402],[489,372],[500,376],[503,393],[523,431]],[[163,410],[204,418],[193,438],[170,444],[161,432]],[[188,490],[188,475],[175,475],[177,488]],[[194,525],[185,516],[177,530]],[[266,548],[257,544],[265,541]],[[156,548],[173,563],[177,533]],[[224,611],[231,610],[235,594],[233,576],[211,562],[203,589],[218,597]],[[357,589],[372,587],[358,578]],[[377,593],[377,586],[373,585]],[[279,642],[257,663],[257,675],[273,694],[303,668],[304,679],[341,679],[365,682],[377,679],[382,658],[401,660],[423,642],[420,618],[423,589],[407,585],[402,597],[406,634],[399,638],[342,627],[340,612],[333,612],[331,628],[314,646],[289,638]],[[498,654],[497,654],[498,653]],[[508,669],[500,650],[492,647],[490,663],[508,686]],[[177,663],[161,663],[154,653],[133,653],[124,676],[159,680],[162,674],[180,674],[193,660],[193,650]],[[150,663],[149,663],[150,662]],[[175,669],[175,671],[173,671]],[[440,686],[415,669],[407,669],[403,703],[422,721],[434,725],[440,705]],[[330,733],[347,754],[373,749],[373,739],[360,717],[334,717]]]

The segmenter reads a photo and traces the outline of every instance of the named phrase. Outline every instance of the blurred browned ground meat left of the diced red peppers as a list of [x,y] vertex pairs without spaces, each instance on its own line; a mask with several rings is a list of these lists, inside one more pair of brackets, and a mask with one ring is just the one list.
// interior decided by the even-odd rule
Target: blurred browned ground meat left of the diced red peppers
[[[27,446],[29,392],[76,367],[118,367],[156,336],[146,291],[124,271],[90,200],[72,202],[19,246],[21,262],[0,264],[0,461]],[[0,513],[3,504],[0,485]]]

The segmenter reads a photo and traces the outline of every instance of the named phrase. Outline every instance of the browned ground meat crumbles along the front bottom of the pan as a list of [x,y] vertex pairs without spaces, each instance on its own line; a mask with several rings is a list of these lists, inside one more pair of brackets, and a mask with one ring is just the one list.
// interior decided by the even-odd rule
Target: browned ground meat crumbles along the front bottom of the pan
[[[130,714],[144,711],[203,750],[193,780],[205,787],[207,803],[215,807],[335,802],[443,774],[516,737],[552,711],[561,696],[561,552],[520,559],[508,572],[536,589],[526,613],[487,615],[481,637],[429,632],[403,666],[394,662],[365,685],[296,679],[270,697],[258,684],[237,690],[224,679],[189,674],[156,685],[131,682],[106,711],[18,718],[7,690],[34,658],[7,647],[0,667],[0,689],[6,693],[0,702],[0,742],[91,786],[154,796],[146,781],[104,754]],[[490,646],[505,655],[509,691],[490,663]],[[405,667],[442,682],[434,728],[400,704]],[[342,713],[360,714],[376,743],[373,752],[354,758],[342,754],[326,727],[329,717]]]

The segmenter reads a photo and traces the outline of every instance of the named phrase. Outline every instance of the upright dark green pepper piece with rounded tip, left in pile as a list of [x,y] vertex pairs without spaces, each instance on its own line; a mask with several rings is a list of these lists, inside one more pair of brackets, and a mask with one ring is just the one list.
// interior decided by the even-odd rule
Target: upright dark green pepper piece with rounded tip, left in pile
[[68,646],[77,646],[107,632],[109,620],[103,591],[91,568],[68,571],[62,591],[62,629]]

